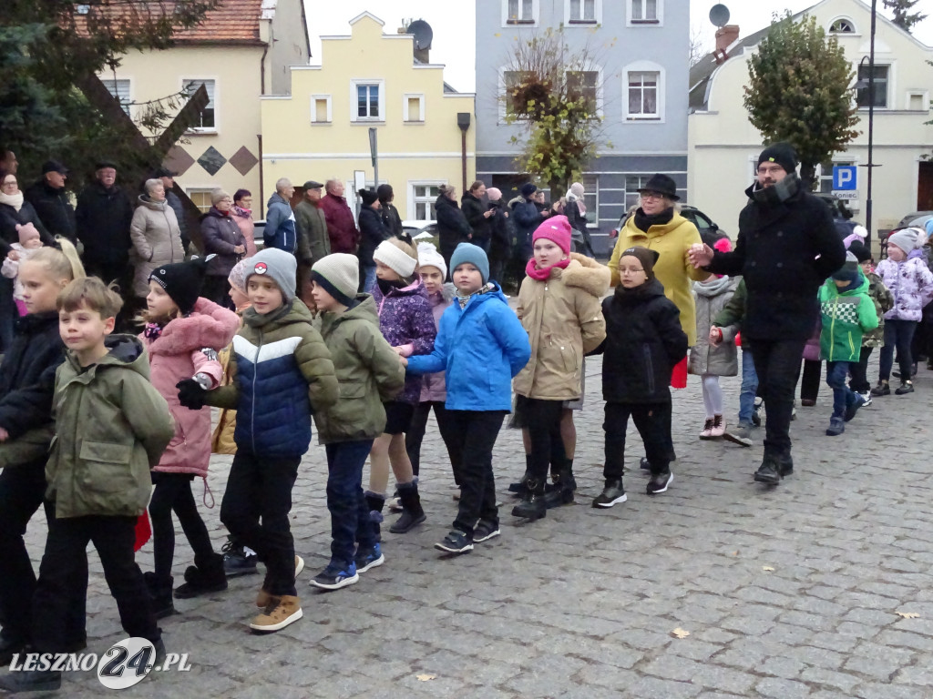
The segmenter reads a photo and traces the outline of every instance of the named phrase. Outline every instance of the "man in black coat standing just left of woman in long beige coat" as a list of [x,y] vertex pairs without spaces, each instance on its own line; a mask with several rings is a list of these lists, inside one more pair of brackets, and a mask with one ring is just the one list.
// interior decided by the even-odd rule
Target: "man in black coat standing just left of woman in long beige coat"
[[130,223],[132,203],[117,182],[117,166],[97,163],[95,181],[77,198],[77,240],[84,245],[88,274],[104,282],[118,280],[121,291],[130,288]]

